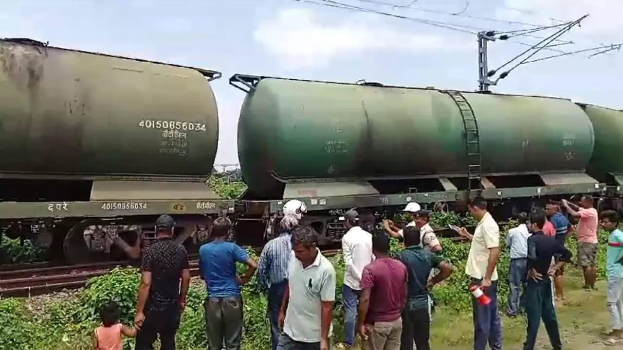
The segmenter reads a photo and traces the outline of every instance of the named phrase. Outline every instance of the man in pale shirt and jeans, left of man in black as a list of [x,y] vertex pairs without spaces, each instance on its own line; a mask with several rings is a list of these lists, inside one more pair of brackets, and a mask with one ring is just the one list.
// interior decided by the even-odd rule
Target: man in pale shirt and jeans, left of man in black
[[525,308],[526,278],[528,275],[528,226],[526,213],[519,214],[520,225],[508,230],[506,245],[510,248],[510,268],[508,269],[508,310],[506,315],[515,318]]

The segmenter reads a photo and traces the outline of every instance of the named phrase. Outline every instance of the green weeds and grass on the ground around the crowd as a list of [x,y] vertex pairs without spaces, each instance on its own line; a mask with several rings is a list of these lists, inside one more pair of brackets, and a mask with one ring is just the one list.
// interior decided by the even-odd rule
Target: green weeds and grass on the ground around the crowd
[[[450,222],[456,224],[456,222]],[[509,225],[515,223],[511,222]],[[501,240],[505,239],[506,228],[502,227],[503,234]],[[604,275],[606,234],[601,232],[599,252],[597,262],[600,276]],[[391,249],[393,253],[402,249],[397,240],[392,240]],[[432,337],[434,348],[448,348],[458,346],[460,349],[467,348],[471,341],[471,298],[467,290],[467,279],[465,278],[465,260],[469,252],[469,245],[461,242],[454,242],[450,239],[442,239],[444,246],[444,257],[456,267],[456,272],[439,286],[434,289],[434,296],[439,304],[439,312],[434,322]],[[569,240],[569,249],[575,253],[576,242]],[[257,260],[254,252],[249,252]],[[343,338],[343,308],[341,306],[341,285],[343,280],[344,265],[341,255],[330,258],[335,266],[337,273],[336,303],[334,311],[334,338],[336,341]],[[500,275],[500,285],[498,287],[501,310],[504,310],[508,286],[506,283],[508,276],[509,258],[507,249],[503,253],[498,264],[498,274]],[[239,269],[244,269],[239,266]],[[581,275],[576,268],[573,270],[574,279],[568,279],[571,289],[579,289],[578,278]],[[98,310],[103,303],[114,300],[119,303],[122,311],[122,320],[126,324],[133,321],[136,288],[138,286],[139,275],[133,268],[118,268],[112,273],[93,278],[87,287],[77,293],[73,298],[63,301],[52,301],[44,306],[44,310],[36,313],[27,307],[28,301],[24,299],[8,298],[0,300],[0,350],[4,349],[90,349],[90,334],[98,324]],[[602,290],[599,294],[602,298]],[[602,310],[606,312],[603,300],[592,303],[591,308],[584,308],[583,300],[578,291],[578,295],[568,301],[568,311],[561,312],[564,317],[581,317],[583,321],[573,321],[563,319],[568,327],[582,328],[578,322],[590,323],[591,315]],[[269,321],[266,316],[267,301],[260,293],[255,277],[252,278],[243,288],[244,298],[244,323],[245,333],[243,337],[242,349],[257,350],[270,348]],[[204,283],[191,285],[188,295],[186,310],[178,331],[177,341],[179,349],[198,350],[206,348],[206,333],[204,322],[203,301],[206,297]],[[596,298],[596,297],[595,297]],[[597,302],[599,301],[599,302]],[[577,304],[577,305],[576,305]],[[597,305],[599,304],[599,305]],[[582,306],[580,311],[575,311],[577,306]],[[586,309],[586,310],[585,310]],[[597,310],[597,311],[595,311]],[[587,313],[587,315],[576,315],[576,313]],[[600,316],[601,317],[601,316]],[[523,319],[504,322],[506,331],[505,341],[511,344],[519,344],[525,334],[525,323]],[[569,328],[571,329],[571,328]],[[573,333],[573,329],[569,331]],[[541,332],[541,335],[545,332]],[[509,338],[510,337],[510,338]],[[512,339],[511,339],[512,338]],[[133,348],[133,340],[125,341],[125,349]]]

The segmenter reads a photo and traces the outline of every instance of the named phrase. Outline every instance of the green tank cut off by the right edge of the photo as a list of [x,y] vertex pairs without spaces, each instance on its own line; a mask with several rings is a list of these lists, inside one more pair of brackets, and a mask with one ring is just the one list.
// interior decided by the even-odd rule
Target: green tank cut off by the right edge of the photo
[[591,171],[605,181],[606,174],[623,174],[623,111],[584,105],[595,131],[595,149],[589,163]]

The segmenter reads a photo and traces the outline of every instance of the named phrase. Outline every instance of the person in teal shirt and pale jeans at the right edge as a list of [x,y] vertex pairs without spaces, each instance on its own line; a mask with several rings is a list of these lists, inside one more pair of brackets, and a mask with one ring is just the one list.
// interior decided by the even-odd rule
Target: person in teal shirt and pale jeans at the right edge
[[606,253],[606,302],[610,313],[610,331],[606,335],[618,338],[623,333],[623,232],[617,229],[619,214],[616,211],[606,210],[599,216],[601,227],[610,232]]

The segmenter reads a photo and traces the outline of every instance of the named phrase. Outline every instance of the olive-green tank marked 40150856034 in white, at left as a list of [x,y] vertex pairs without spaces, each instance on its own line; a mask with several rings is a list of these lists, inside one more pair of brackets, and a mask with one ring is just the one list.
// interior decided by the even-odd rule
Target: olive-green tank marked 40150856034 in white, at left
[[216,101],[198,70],[4,40],[0,66],[3,177],[199,181],[212,169]]

